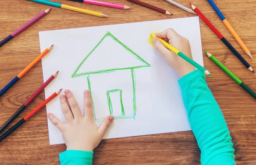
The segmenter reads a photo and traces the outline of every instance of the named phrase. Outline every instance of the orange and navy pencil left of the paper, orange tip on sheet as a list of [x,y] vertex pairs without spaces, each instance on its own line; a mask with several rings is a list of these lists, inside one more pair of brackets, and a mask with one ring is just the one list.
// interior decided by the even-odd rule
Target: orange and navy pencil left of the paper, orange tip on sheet
[[35,66],[51,49],[53,45],[44,50],[37,58],[35,58],[25,69],[23,69],[9,84],[7,84],[2,90],[0,90],[0,97],[10,89],[20,78],[22,78],[32,67]]

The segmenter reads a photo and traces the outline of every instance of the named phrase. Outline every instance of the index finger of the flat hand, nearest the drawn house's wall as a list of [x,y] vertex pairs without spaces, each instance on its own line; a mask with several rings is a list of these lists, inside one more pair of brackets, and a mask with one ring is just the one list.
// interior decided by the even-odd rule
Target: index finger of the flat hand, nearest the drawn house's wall
[[84,91],[84,117],[88,117],[93,120],[93,106],[90,98],[90,92]]

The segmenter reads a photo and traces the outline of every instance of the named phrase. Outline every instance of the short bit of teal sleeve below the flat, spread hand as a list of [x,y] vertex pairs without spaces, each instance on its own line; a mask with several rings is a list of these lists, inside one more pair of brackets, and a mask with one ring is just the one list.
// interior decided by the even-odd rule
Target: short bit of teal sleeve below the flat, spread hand
[[59,154],[61,165],[92,165],[93,151],[67,150]]

